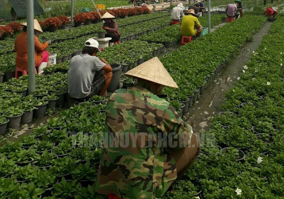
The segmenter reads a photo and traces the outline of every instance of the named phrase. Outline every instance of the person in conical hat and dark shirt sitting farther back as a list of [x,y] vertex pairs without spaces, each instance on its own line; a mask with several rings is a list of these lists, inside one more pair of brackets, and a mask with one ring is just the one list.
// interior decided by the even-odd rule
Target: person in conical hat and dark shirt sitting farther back
[[109,14],[108,12],[106,12],[101,17],[101,19],[105,20],[105,23],[103,25],[103,29],[105,29],[105,31],[107,32],[105,37],[111,37],[111,40],[109,42],[112,43],[112,44],[114,42],[119,41],[119,39],[120,39],[118,25],[117,25],[116,21],[113,20],[113,18],[115,18],[115,16]]

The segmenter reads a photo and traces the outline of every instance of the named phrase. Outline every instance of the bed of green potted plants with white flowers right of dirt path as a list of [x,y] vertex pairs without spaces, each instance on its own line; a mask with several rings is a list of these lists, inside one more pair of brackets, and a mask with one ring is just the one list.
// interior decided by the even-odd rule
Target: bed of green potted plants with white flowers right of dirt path
[[[278,18],[271,26],[226,93],[225,112],[214,116],[211,129],[202,133],[202,154],[186,173],[202,184],[200,198],[283,196],[283,22]],[[243,151],[244,161],[225,158],[220,146],[231,146],[237,158]]]

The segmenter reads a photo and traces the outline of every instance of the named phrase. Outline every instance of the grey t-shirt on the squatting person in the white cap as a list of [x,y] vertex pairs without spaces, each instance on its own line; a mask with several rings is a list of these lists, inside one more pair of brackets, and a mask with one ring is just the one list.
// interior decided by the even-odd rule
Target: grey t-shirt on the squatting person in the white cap
[[77,99],[88,96],[96,71],[101,70],[105,65],[99,58],[88,54],[73,57],[67,77],[69,96]]

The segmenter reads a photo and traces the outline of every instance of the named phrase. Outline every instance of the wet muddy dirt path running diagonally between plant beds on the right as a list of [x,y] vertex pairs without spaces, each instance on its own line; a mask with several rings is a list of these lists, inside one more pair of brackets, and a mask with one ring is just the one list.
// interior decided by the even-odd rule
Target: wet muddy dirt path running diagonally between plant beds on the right
[[239,55],[233,58],[229,65],[223,67],[221,73],[204,90],[200,99],[183,116],[184,121],[187,121],[195,132],[209,130],[211,117],[222,111],[219,107],[224,103],[224,92],[233,86],[233,83],[237,81],[237,77],[240,77],[242,74],[240,71],[242,71],[245,63],[250,60],[252,52],[258,49],[271,24],[269,22],[264,24],[258,33],[253,36],[253,40],[246,43],[240,50]]

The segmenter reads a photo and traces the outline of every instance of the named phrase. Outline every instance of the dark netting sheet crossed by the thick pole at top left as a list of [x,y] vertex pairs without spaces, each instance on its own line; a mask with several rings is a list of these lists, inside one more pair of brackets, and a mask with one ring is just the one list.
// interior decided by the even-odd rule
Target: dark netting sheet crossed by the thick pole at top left
[[[27,16],[27,5],[25,0],[8,0],[9,4],[13,7],[18,17]],[[43,14],[44,10],[41,8],[37,0],[34,0],[34,14]]]

